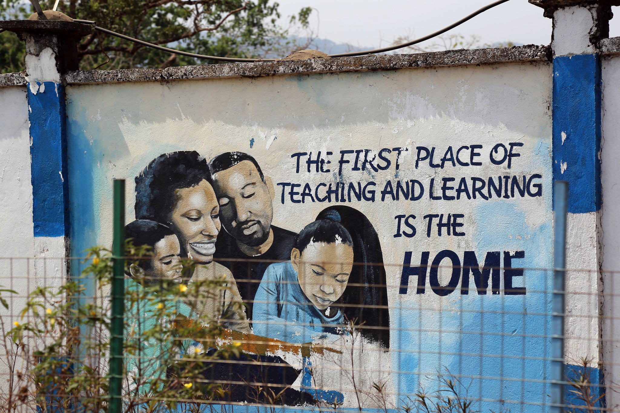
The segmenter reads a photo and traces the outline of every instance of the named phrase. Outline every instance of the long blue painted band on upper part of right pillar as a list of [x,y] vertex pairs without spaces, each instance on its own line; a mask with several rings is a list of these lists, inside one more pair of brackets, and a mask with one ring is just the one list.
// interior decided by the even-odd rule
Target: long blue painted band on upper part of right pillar
[[553,59],[553,179],[569,182],[568,212],[601,207],[598,54]]

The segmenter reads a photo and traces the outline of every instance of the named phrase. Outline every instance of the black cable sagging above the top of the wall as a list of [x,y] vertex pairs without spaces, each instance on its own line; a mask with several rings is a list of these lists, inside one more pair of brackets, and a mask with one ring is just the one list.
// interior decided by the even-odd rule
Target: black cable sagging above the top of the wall
[[[467,20],[472,19],[473,17],[476,17],[480,13],[483,13],[483,12],[489,10],[489,9],[492,9],[495,6],[499,6],[500,4],[505,3],[507,1],[509,1],[509,0],[498,0],[498,1],[492,2],[491,4],[487,4],[487,6],[484,6],[484,7],[480,8],[480,9],[476,10],[472,14],[469,14],[466,17],[463,17],[463,19],[458,20],[458,22],[454,22],[453,24],[451,24],[451,25],[449,25],[447,27],[444,27],[444,28],[442,28],[441,30],[438,30],[435,33],[431,33],[430,35],[427,35],[425,37],[420,37],[420,38],[417,38],[417,39],[412,40],[412,41],[407,41],[407,43],[401,43],[400,45],[389,46],[389,47],[384,47],[384,48],[374,49],[374,50],[354,51],[352,53],[328,54],[328,56],[330,58],[343,58],[343,57],[347,57],[347,56],[363,56],[364,54],[384,53],[386,51],[402,49],[404,47],[415,45],[416,43],[421,43],[422,41],[425,41],[425,40],[428,40],[430,38],[433,38],[433,37],[436,37],[438,35],[441,35],[442,33],[445,33],[448,30],[451,30],[454,27],[457,27],[457,26],[463,24]],[[99,30],[99,32],[107,33],[108,35],[112,35],[112,36],[116,36],[116,37],[119,37],[119,38],[122,38],[122,39],[125,39],[125,40],[133,41],[134,43],[138,43],[140,45],[152,47],[154,49],[167,51],[168,53],[175,53],[175,54],[180,54],[182,56],[189,56],[190,58],[211,59],[211,60],[219,60],[219,61],[225,61],[225,62],[258,62],[258,61],[273,62],[273,61],[279,60],[279,59],[221,58],[219,56],[207,56],[205,54],[188,53],[186,51],[174,50],[174,49],[169,49],[169,48],[164,47],[164,46],[154,45],[153,43],[148,43],[148,41],[138,40],[138,39],[135,39],[133,37],[122,35],[120,33],[112,32],[112,30],[107,30],[107,28],[97,27],[95,22],[93,22],[91,20],[73,20],[73,21],[77,22],[77,23],[83,23],[83,24],[92,24],[92,25],[94,25],[95,30]]]

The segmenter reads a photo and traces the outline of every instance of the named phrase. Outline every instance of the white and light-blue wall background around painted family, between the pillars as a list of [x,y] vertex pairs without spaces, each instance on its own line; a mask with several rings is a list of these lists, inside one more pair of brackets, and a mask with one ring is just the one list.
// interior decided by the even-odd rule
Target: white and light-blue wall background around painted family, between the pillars
[[[533,403],[546,399],[545,386],[535,380],[546,378],[549,372],[547,362],[540,359],[549,357],[549,339],[545,338],[549,334],[548,320],[544,313],[549,311],[551,272],[526,271],[524,277],[516,272],[513,287],[525,287],[525,291],[518,291],[525,295],[504,293],[510,269],[498,271],[497,294],[490,291],[489,285],[487,295],[475,290],[462,295],[460,275],[453,285],[449,283],[451,269],[440,269],[440,285],[453,287],[441,297],[441,289],[433,290],[430,279],[425,292],[416,293],[417,277],[411,276],[407,282],[408,272],[402,265],[408,251],[410,264],[415,267],[424,251],[430,253],[432,261],[440,251],[450,250],[461,260],[464,251],[474,251],[480,265],[487,252],[500,251],[497,264],[502,268],[510,263],[510,259],[505,261],[504,251],[513,256],[515,251],[525,251],[523,258],[511,261],[513,266],[552,266],[549,64],[70,85],[67,98],[73,254],[92,245],[110,245],[113,178],[126,178],[130,221],[134,218],[134,177],[157,156],[197,150],[211,159],[229,150],[240,150],[254,156],[275,185],[274,225],[299,232],[326,207],[345,204],[363,212],[378,232],[383,260],[388,264],[391,360],[386,363],[377,358],[381,352],[366,350],[363,369],[381,366],[368,372],[364,383],[369,389],[373,380],[396,370],[402,373],[387,373],[391,381],[389,393],[412,394],[420,384],[436,385],[425,376],[445,366],[455,374],[512,377],[526,382],[523,386],[511,382],[518,383],[513,386],[502,380],[474,380],[473,397],[484,388],[484,394],[495,394],[498,399]],[[490,162],[491,150],[498,144],[509,148],[510,142],[523,144],[514,146],[513,152],[520,157],[511,159],[511,168],[507,161],[500,165]],[[471,157],[471,145],[482,146],[474,150],[479,157]],[[433,163],[441,163],[448,147],[456,154],[461,146],[468,147],[460,153],[461,162],[469,164],[473,159],[482,165],[463,167],[448,160],[444,168],[431,167],[427,159],[415,167],[417,147],[436,147]],[[352,170],[353,154],[346,158],[350,163],[343,164],[342,176],[338,173],[340,150],[368,149],[370,160],[383,148],[397,147],[403,148],[399,170],[394,150],[389,155],[391,166],[385,170],[374,171],[368,165],[365,171]],[[301,167],[296,171],[296,157],[291,155],[312,152],[314,159],[319,151],[330,160],[324,165],[330,172],[317,173],[314,166],[308,172],[307,157],[300,158]],[[333,153],[329,157],[328,151]],[[360,167],[364,154],[361,152]],[[387,154],[383,152],[384,157]],[[503,149],[498,147],[494,159],[502,156]],[[379,164],[386,165],[383,160]],[[510,176],[510,182],[516,176],[521,183],[524,175],[529,180],[536,174],[538,178],[531,182],[541,183],[539,196],[534,194],[536,187],[530,187],[531,194],[524,192],[520,196],[518,190],[508,189],[501,199],[496,195],[489,200],[480,196],[467,199],[461,193],[461,199],[449,200],[449,196],[456,195],[450,190],[445,199],[430,199],[431,180],[435,182],[433,196],[441,198],[442,178],[455,178],[446,186],[457,188],[461,178],[466,178],[471,190],[472,176],[482,177],[485,182],[494,177],[496,183],[497,176]],[[403,184],[420,181],[425,189],[423,197],[405,201],[401,194],[399,201],[393,200],[386,185],[391,181],[396,190],[398,180]],[[305,202],[297,203],[294,201],[298,196],[291,198],[290,186],[283,192],[281,185],[298,183],[301,192],[308,183],[316,195],[320,183],[335,185],[338,181],[347,185],[359,181],[362,186],[373,181],[375,198],[353,198],[349,202],[345,191],[345,202],[313,202],[307,197]],[[321,197],[324,189],[319,187]],[[464,226],[459,230],[465,235],[447,236],[444,230],[439,237],[435,221],[427,237],[428,220],[423,218],[427,214],[445,214],[444,220],[448,214],[463,214],[459,221]],[[399,215],[403,215],[400,230]],[[417,231],[411,237],[402,234],[411,233],[404,223],[409,215],[415,215],[408,222]],[[450,261],[441,264],[447,266]],[[403,283],[408,284],[405,290]],[[473,280],[463,290],[467,287],[475,288]],[[541,315],[532,316],[526,323],[525,311]],[[505,334],[508,329],[510,334]],[[463,335],[461,331],[471,334]],[[321,363],[327,372],[321,381],[345,394],[345,406],[356,406],[347,380],[329,373],[333,372],[329,361],[313,362],[316,368]],[[498,408],[492,403],[488,407]]]

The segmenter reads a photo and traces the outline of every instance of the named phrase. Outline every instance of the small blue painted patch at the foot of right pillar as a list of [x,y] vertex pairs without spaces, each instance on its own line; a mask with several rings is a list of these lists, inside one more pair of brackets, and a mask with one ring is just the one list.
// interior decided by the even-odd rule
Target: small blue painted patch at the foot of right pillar
[[[569,383],[579,383],[583,379],[584,382],[590,383],[590,386],[583,386],[584,390],[589,389],[590,400],[595,401],[595,407],[606,407],[605,400],[605,380],[603,372],[600,368],[577,366],[572,364],[564,365],[564,376]],[[575,393],[577,392],[577,393]],[[573,408],[572,406],[586,406],[583,400],[582,390],[570,384],[564,386],[564,402],[571,405],[567,411],[582,411],[582,409]]]

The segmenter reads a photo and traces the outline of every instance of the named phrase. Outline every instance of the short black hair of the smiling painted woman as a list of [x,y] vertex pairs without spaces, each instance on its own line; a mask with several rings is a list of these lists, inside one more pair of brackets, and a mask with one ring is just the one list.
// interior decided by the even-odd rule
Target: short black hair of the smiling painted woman
[[203,180],[212,182],[209,164],[195,150],[159,155],[136,176],[136,219],[168,224],[177,202],[175,191]]

